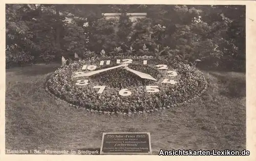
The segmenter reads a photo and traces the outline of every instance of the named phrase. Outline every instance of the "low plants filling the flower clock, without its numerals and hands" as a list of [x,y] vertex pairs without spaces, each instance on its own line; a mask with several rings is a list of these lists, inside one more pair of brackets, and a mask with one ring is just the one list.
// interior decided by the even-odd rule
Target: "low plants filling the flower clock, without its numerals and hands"
[[[96,64],[100,60],[133,59],[134,61],[148,60],[148,65],[130,64],[130,68],[145,73],[150,73],[159,81],[144,80],[131,72],[117,68],[112,72],[96,74],[89,78],[90,84],[78,86],[76,81],[82,78],[74,78],[74,72],[81,72],[83,64]],[[59,68],[47,81],[47,90],[55,97],[66,100],[74,106],[96,111],[108,112],[139,112],[154,111],[170,108],[187,103],[200,96],[206,88],[206,80],[203,74],[194,67],[181,62],[168,64],[170,70],[178,73],[173,77],[176,84],[161,83],[166,72],[156,70],[155,64],[168,64],[165,58],[154,58],[152,56],[118,56],[92,57],[83,61],[77,61]],[[152,64],[152,65],[150,65]],[[116,64],[108,65],[115,66]],[[106,66],[100,66],[105,68]],[[97,69],[100,69],[97,68]],[[106,85],[102,94],[97,94],[93,86]],[[145,91],[145,85],[158,85],[160,91],[152,94]],[[119,90],[127,88],[132,92],[130,96],[120,96]]]

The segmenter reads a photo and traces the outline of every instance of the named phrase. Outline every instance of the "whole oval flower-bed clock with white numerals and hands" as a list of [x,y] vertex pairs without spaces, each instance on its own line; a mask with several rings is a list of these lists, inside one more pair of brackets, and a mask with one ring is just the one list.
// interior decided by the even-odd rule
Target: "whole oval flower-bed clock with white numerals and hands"
[[206,87],[197,68],[152,56],[92,57],[60,67],[47,81],[55,97],[109,114],[172,108],[199,97]]

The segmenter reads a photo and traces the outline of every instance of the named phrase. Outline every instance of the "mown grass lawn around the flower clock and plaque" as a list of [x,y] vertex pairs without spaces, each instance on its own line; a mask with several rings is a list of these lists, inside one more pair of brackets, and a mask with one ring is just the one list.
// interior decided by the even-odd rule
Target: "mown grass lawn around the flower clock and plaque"
[[100,148],[103,132],[150,132],[152,150],[246,148],[245,73],[203,71],[197,100],[153,114],[104,116],[55,100],[44,83],[59,64],[6,70],[6,149]]

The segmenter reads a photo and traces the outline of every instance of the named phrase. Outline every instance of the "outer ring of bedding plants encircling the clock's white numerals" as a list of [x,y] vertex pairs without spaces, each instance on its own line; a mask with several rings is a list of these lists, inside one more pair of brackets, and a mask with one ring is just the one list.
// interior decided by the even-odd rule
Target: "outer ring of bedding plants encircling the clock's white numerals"
[[[73,90],[77,91],[77,93],[75,93],[75,94],[77,94],[78,96],[81,96],[81,94],[83,94],[83,93],[81,93],[79,95],[78,93],[80,93],[82,87],[79,88],[79,87],[73,86],[72,83],[70,83],[68,81],[71,79],[72,72],[77,71],[77,68],[80,67],[81,64],[84,64],[84,63],[93,64],[94,62],[96,62],[96,61],[99,62],[100,60],[116,60],[116,59],[154,60],[154,61],[159,61],[160,64],[166,64],[168,66],[170,65],[167,63],[166,58],[164,58],[164,57],[160,57],[160,58],[154,58],[152,56],[91,57],[91,58],[84,59],[81,62],[77,61],[72,64],[69,64],[69,65],[66,65],[63,67],[59,67],[58,70],[56,70],[50,76],[50,78],[46,81],[46,90],[50,95],[52,95],[56,99],[64,100],[67,103],[69,103],[71,106],[74,106],[76,108],[82,108],[82,109],[86,109],[88,111],[105,113],[105,114],[118,113],[118,114],[131,115],[133,113],[154,112],[154,111],[164,110],[164,109],[167,109],[170,107],[175,107],[175,106],[180,106],[180,105],[186,104],[190,101],[197,99],[207,89],[207,81],[206,81],[203,73],[200,72],[196,67],[189,66],[182,62],[175,62],[175,63],[173,62],[171,65],[174,67],[174,69],[177,69],[179,71],[182,78],[177,80],[177,82],[178,82],[178,83],[176,83],[177,86],[173,86],[173,88],[164,88],[164,89],[166,89],[166,90],[164,90],[165,93],[160,93],[157,95],[148,95],[147,101],[150,101],[150,103],[145,102],[145,100],[144,100],[145,98],[142,98],[141,99],[142,101],[140,101],[140,99],[137,95],[136,97],[138,97],[138,101],[139,101],[138,103],[141,106],[143,106],[143,105],[149,106],[147,108],[139,107],[137,104],[135,104],[133,102],[133,104],[130,104],[130,105],[128,104],[127,108],[120,109],[119,107],[114,107],[115,106],[114,103],[116,103],[116,102],[114,102],[112,109],[107,108],[107,110],[104,110],[104,109],[102,109],[102,107],[98,108],[98,105],[99,106],[101,105],[99,103],[96,103],[96,105],[93,104],[93,106],[91,106],[92,104],[90,104],[90,103],[84,104],[84,100],[81,100],[81,98],[78,98],[79,100],[76,100],[77,97],[72,95],[72,92],[74,92]],[[65,87],[65,90],[64,90],[64,87]],[[168,87],[168,86],[166,86],[166,87]],[[172,94],[170,94],[171,91],[169,89],[172,89]],[[83,90],[88,90],[88,89],[83,88]],[[183,93],[181,93],[181,91]],[[166,94],[168,94],[168,95],[166,95]],[[105,96],[105,95],[103,95],[103,96]],[[110,101],[112,98],[114,101],[117,101],[117,100],[115,100],[116,99],[115,95],[113,95],[111,98],[108,98],[110,96],[111,95],[106,96],[107,98],[105,99],[105,101]],[[144,95],[141,95],[141,96],[144,96]],[[91,97],[91,95],[90,95],[90,97]],[[98,96],[94,96],[94,98],[99,99]],[[88,99],[90,99],[90,98],[88,98]],[[160,100],[160,99],[162,99],[162,100]],[[72,100],[76,100],[76,101],[78,101],[78,103],[77,102],[74,103],[74,102],[72,102]],[[144,102],[143,102],[143,100],[144,100]],[[79,101],[81,102],[81,104],[82,103],[83,104],[80,105]],[[94,101],[94,100],[90,100],[90,101]],[[97,102],[97,101],[95,101],[95,102]],[[104,102],[102,100],[100,100],[100,101]],[[120,102],[125,102],[125,101],[128,102],[129,99],[127,100],[124,98],[123,100],[119,99],[119,101]],[[173,102],[175,102],[175,103],[173,104]],[[109,105],[111,105],[111,104],[109,104]],[[138,110],[138,108],[131,108],[131,105],[138,106],[138,108],[139,109],[141,108],[142,110]],[[126,104],[122,104],[122,105],[119,104],[119,106],[125,107]],[[158,106],[158,107],[156,107],[156,106]]]

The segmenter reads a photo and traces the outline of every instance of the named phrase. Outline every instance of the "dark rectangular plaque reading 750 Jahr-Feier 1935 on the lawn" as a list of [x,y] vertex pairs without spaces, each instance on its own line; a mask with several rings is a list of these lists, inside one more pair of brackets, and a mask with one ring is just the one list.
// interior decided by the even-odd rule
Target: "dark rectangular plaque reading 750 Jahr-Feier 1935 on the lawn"
[[150,133],[103,133],[100,154],[152,154]]

